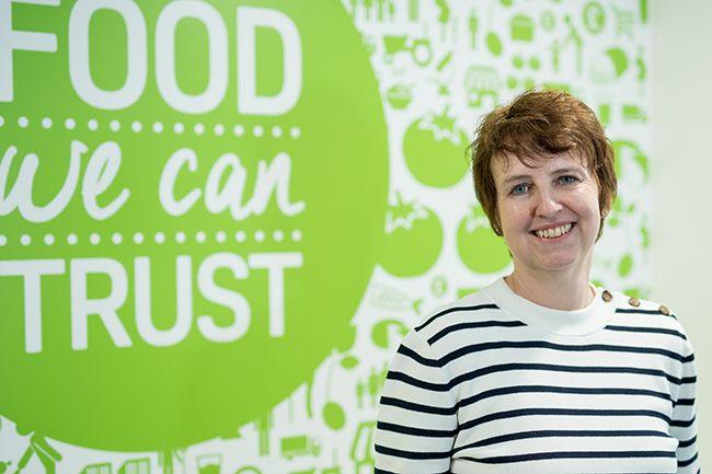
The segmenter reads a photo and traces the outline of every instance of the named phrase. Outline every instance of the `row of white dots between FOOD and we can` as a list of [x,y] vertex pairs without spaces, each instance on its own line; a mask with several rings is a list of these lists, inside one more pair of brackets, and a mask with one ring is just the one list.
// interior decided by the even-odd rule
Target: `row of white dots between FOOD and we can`
[[[3,127],[5,124],[7,124],[5,118],[0,116],[0,127]],[[241,124],[237,124],[233,126],[215,124],[213,126],[208,126],[203,123],[197,123],[194,124],[192,127],[188,127],[186,124],[183,124],[182,122],[176,122],[173,124],[164,124],[163,122],[160,120],[153,123],[142,123],[139,120],[133,120],[130,123],[122,124],[119,120],[116,119],[106,120],[105,123],[100,123],[95,118],[90,118],[84,124],[84,123],[79,123],[73,118],[66,118],[64,122],[56,123],[50,117],[43,117],[42,119],[37,119],[37,120],[30,119],[30,117],[26,116],[18,117],[18,126],[20,128],[28,128],[33,124],[39,124],[39,126],[45,130],[49,130],[53,127],[64,127],[67,130],[74,130],[74,129],[81,129],[82,127],[85,126],[87,129],[90,131],[97,131],[100,129],[107,128],[108,130],[116,132],[122,130],[122,128],[126,126],[135,134],[151,131],[156,135],[160,135],[163,134],[164,131],[171,130],[175,135],[193,132],[198,137],[206,134],[213,134],[217,137],[222,137],[226,134],[230,134],[230,132],[236,137],[244,137],[248,135],[256,138],[267,137],[267,136],[273,138],[290,137],[295,140],[301,137],[301,129],[299,127],[282,127],[278,125],[275,125],[273,127],[265,127],[263,125],[254,125],[252,127],[246,127]]]

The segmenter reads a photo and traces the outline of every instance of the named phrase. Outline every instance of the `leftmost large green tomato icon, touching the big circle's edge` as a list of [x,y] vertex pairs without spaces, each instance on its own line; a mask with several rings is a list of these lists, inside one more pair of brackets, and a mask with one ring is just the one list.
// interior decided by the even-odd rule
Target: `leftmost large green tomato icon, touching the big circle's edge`
[[443,226],[437,216],[417,201],[400,195],[386,211],[386,239],[380,264],[397,277],[414,277],[437,262],[443,248]]

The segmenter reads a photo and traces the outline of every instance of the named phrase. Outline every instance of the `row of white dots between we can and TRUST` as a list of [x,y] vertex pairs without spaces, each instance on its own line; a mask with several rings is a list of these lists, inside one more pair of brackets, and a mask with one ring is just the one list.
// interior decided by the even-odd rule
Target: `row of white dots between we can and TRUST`
[[[213,235],[208,235],[204,231],[197,231],[195,233],[186,233],[183,231],[175,232],[174,234],[166,235],[165,232],[154,232],[154,233],[143,233],[143,232],[134,232],[133,234],[128,235],[123,235],[119,232],[114,232],[114,233],[107,233],[107,234],[100,234],[97,232],[92,232],[88,236],[80,238],[80,235],[77,235],[76,233],[69,233],[64,238],[56,236],[55,234],[47,233],[42,238],[36,238],[34,240],[33,236],[30,234],[22,234],[20,238],[18,238],[18,241],[22,246],[30,246],[34,243],[39,244],[44,243],[47,246],[55,245],[56,243],[60,242],[67,242],[69,245],[77,245],[80,240],[85,240],[89,241],[90,244],[92,245],[99,245],[104,242],[111,242],[114,245],[120,245],[122,243],[134,243],[136,245],[141,245],[143,243],[149,243],[149,242],[154,242],[159,245],[164,244],[164,243],[170,243],[170,242],[175,242],[179,244],[184,244],[184,243],[190,243],[190,242],[197,242],[199,244],[202,243],[211,243],[211,242],[217,242],[217,243],[226,243],[229,240],[239,242],[239,243],[244,243],[248,240],[252,238],[255,242],[265,242],[266,240],[272,240],[273,242],[286,242],[286,241],[291,241],[291,242],[301,242],[302,234],[299,229],[292,230],[291,232],[286,232],[283,230],[274,230],[272,232],[267,232],[264,230],[257,230],[254,231],[252,234],[249,234],[245,231],[237,231],[234,233],[228,233],[226,231],[217,231]],[[10,240],[8,236],[0,234],[0,246],[5,246],[10,243]]]

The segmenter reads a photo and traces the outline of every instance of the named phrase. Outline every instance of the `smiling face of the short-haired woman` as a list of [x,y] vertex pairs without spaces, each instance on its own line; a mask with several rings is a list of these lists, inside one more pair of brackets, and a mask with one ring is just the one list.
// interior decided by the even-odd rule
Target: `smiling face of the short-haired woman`
[[516,158],[492,163],[497,211],[515,271],[590,268],[598,228],[598,186],[569,152],[528,167]]

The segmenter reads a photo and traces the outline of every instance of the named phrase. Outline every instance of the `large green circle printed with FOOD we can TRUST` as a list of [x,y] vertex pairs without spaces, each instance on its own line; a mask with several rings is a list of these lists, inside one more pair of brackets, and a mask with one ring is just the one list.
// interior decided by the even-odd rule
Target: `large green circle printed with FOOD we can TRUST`
[[[55,35],[57,48],[14,53],[14,96],[0,104],[0,151],[16,149],[5,195],[30,153],[37,171],[25,195],[36,206],[71,183],[72,151],[80,166],[54,218],[31,222],[19,209],[0,217],[0,414],[42,436],[107,450],[236,437],[309,380],[333,347],[351,344],[387,206],[378,85],[336,0],[310,8],[288,0],[103,4],[118,3],[134,5],[131,28],[142,24],[143,37],[102,9],[84,42],[100,90],[117,91],[146,68],[135,100],[115,108],[91,105],[70,81],[72,10],[91,2],[13,10],[15,28]],[[165,69],[157,66],[164,10],[182,5],[206,16],[179,21],[172,36],[163,30],[174,43],[174,89],[199,96],[215,85],[208,70],[221,56],[208,51],[221,28],[205,19],[226,33],[227,66],[215,69],[225,76],[222,99],[194,103],[199,113],[176,105],[175,91],[165,100]],[[286,66],[295,49],[285,38],[294,46],[295,32],[297,100],[285,111],[254,112],[240,93],[250,78],[253,94],[267,102],[298,81]],[[145,61],[141,48],[126,47],[141,38]],[[51,94],[42,93],[48,88]],[[166,178],[182,203],[170,207],[160,183],[176,152],[194,158]],[[116,170],[102,153],[119,155]],[[118,209],[96,218],[123,190],[129,195]],[[32,271],[41,271],[39,287]],[[25,331],[33,308],[41,327],[28,319]],[[182,332],[176,321],[185,314]],[[337,411],[326,415],[330,426],[343,424]]]

